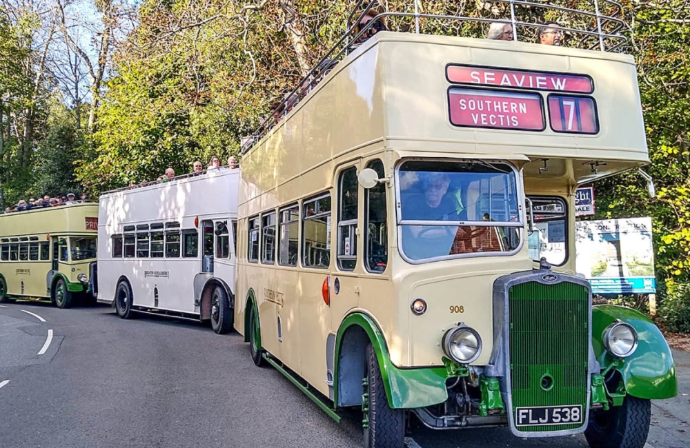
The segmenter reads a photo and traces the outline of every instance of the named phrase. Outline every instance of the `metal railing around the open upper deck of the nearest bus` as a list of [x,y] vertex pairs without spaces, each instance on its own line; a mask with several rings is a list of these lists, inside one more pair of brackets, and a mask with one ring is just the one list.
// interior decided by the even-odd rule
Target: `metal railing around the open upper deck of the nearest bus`
[[[348,17],[346,30],[341,39],[324,54],[319,62],[306,74],[297,86],[284,95],[274,106],[268,119],[251,135],[242,140],[241,152],[245,154],[261,140],[283,117],[292,110],[315,85],[330,72],[338,61],[347,56],[354,48],[362,44],[374,24],[386,23],[387,30],[411,32],[415,34],[443,34],[461,37],[486,38],[487,25],[505,23],[513,30],[514,41],[539,41],[540,28],[546,24],[558,23],[558,30],[564,32],[568,45],[586,50],[618,52],[627,43],[623,34],[629,27],[623,19],[623,8],[612,0],[491,0],[482,1],[484,10],[477,12],[477,17],[464,14],[467,4],[475,2],[457,2],[453,0],[391,0],[390,10],[380,12],[366,25],[358,23],[376,6],[364,0],[357,0]],[[395,10],[395,4],[403,3],[413,10]],[[449,3],[446,5],[446,3]],[[425,12],[426,8],[452,11],[456,14],[433,14]],[[360,11],[357,14],[357,11]],[[486,17],[484,17],[486,16]],[[575,42],[573,44],[573,42]]]

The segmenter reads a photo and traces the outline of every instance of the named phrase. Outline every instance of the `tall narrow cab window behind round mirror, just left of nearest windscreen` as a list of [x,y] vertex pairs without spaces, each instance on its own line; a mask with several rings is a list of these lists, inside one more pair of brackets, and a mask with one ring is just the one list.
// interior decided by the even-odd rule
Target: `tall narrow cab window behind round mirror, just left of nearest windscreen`
[[[384,164],[374,160],[366,165],[379,175],[385,177]],[[386,220],[386,184],[378,183],[375,187],[364,190],[364,240],[366,270],[380,273],[388,264],[388,227]]]

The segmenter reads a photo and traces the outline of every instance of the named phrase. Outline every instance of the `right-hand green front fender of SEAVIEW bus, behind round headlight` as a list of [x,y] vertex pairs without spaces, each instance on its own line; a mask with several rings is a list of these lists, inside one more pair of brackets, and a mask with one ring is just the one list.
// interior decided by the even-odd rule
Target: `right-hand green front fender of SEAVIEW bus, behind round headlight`
[[592,345],[600,365],[611,364],[613,357],[604,348],[604,329],[620,320],[638,332],[638,348],[622,360],[618,369],[627,394],[646,399],[671,398],[678,394],[676,366],[664,335],[644,314],[613,305],[592,307]]

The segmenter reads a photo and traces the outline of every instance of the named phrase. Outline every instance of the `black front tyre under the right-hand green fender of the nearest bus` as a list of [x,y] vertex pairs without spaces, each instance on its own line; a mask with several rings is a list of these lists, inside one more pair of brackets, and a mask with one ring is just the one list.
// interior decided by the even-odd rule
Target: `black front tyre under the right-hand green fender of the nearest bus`
[[627,396],[609,410],[595,409],[584,437],[592,448],[642,448],[651,422],[651,401]]

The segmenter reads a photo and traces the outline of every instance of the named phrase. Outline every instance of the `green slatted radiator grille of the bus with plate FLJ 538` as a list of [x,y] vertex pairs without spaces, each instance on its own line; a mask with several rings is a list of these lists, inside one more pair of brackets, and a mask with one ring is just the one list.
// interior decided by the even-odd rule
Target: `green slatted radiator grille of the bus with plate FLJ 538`
[[[589,290],[576,283],[527,282],[509,289],[513,416],[516,407],[582,405],[587,409]],[[553,387],[542,388],[544,375]],[[583,418],[584,422],[584,418]],[[518,427],[542,432],[582,424]]]

